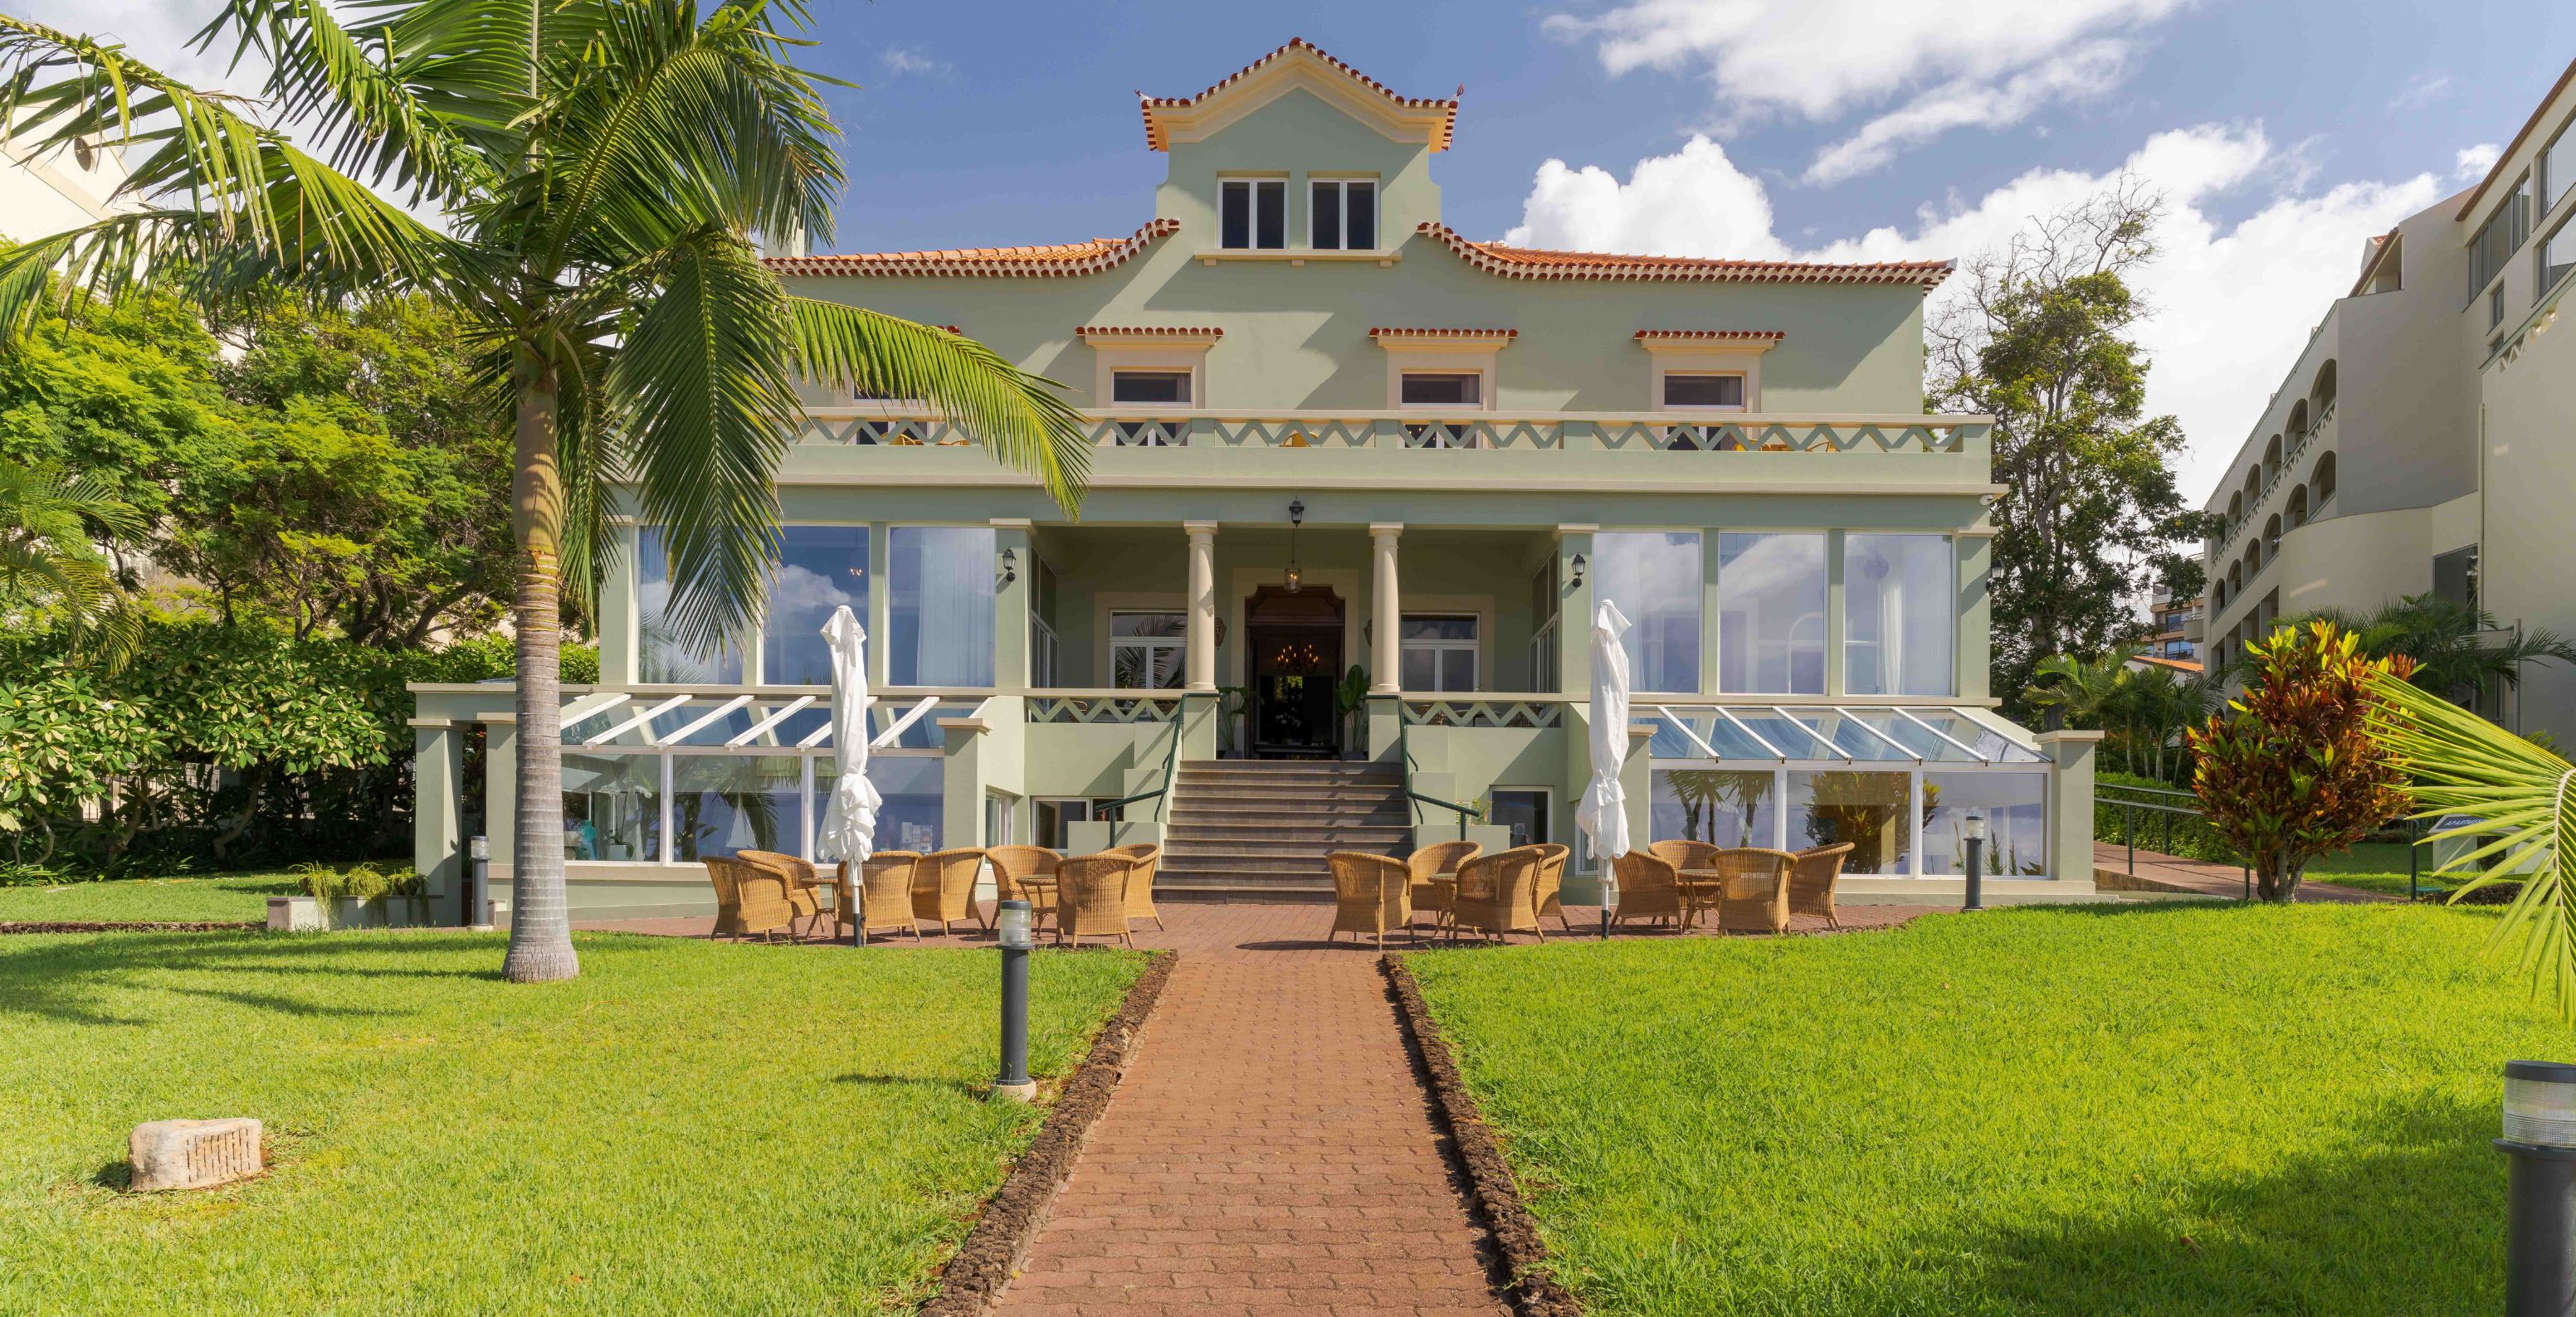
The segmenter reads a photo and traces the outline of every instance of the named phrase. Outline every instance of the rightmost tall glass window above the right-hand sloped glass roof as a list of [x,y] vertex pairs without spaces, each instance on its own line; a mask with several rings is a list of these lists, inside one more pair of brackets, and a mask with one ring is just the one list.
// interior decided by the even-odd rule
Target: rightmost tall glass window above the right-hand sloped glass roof
[[1842,689],[1950,695],[1958,610],[1947,535],[1842,538]]

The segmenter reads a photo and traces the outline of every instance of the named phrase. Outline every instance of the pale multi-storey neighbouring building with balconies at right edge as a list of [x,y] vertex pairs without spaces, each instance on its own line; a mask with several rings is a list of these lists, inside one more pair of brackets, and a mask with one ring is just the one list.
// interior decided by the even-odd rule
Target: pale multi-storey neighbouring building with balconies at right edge
[[[2362,242],[2352,291],[2202,504],[2208,610],[2244,653],[2275,620],[2406,594],[2576,635],[2576,64],[2470,190]],[[2576,671],[2535,664],[2491,710],[2576,741]]]

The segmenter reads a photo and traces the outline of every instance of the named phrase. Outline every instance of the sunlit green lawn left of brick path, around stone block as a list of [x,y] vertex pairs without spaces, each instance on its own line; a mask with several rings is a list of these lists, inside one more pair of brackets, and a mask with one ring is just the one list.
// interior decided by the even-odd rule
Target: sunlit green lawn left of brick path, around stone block
[[[992,952],[582,934],[0,939],[0,1312],[878,1312],[1038,1111],[987,1101]],[[1144,957],[1038,954],[1079,1060]],[[260,1116],[265,1178],[124,1196],[126,1129]]]

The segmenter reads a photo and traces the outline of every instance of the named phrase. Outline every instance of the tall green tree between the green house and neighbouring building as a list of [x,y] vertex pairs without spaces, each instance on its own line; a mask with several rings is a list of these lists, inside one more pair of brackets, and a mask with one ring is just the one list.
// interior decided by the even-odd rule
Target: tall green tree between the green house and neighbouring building
[[1927,394],[1994,417],[1994,689],[2017,715],[2040,658],[2133,638],[2136,597],[2190,576],[2182,424],[2146,417],[2148,309],[2125,278],[2154,260],[2159,211],[2120,183],[2048,216],[1976,260],[1932,324]]

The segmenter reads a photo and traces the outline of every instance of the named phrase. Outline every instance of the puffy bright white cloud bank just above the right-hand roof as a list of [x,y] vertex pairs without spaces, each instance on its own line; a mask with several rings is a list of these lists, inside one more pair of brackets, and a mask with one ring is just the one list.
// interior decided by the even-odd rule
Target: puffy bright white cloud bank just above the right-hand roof
[[[2182,478],[2197,499],[2244,442],[2326,304],[2352,291],[2362,239],[2432,206],[2445,185],[2427,172],[2313,190],[2293,152],[2259,126],[2228,123],[2156,134],[2123,170],[2166,201],[2161,257],[2136,280],[2154,306],[2138,342],[2154,360],[2148,412],[2182,417],[2190,437]],[[2099,193],[2117,172],[2030,170],[1984,198],[1924,206],[1911,224],[1793,250],[1772,234],[1762,180],[1723,147],[1692,139],[1669,157],[1641,159],[1628,183],[1600,167],[1540,165],[1522,221],[1504,242],[1765,260],[1971,260],[2032,219]],[[2267,195],[2246,219],[2210,216],[2218,198],[2254,188]],[[1950,280],[1935,298],[1963,291],[1965,280]]]

